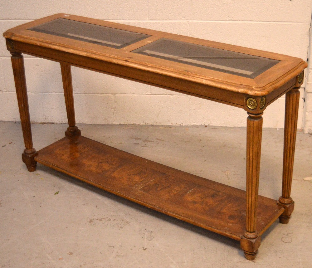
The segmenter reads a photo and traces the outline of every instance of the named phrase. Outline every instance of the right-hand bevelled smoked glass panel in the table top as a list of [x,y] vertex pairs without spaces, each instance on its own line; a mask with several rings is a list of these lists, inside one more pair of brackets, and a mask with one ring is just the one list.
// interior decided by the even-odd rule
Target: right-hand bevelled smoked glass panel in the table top
[[248,78],[255,78],[280,62],[167,38],[161,38],[132,52]]

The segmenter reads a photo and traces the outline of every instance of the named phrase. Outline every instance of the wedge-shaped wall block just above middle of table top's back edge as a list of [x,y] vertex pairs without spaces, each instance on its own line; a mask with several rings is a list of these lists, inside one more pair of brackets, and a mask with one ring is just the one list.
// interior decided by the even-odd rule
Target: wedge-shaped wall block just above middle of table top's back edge
[[117,23],[188,36],[188,22],[177,21],[114,21]]

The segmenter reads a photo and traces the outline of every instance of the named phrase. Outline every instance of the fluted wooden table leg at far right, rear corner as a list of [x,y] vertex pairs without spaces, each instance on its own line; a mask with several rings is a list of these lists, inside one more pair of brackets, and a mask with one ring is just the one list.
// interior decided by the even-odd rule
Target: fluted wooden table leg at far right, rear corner
[[280,215],[281,223],[288,223],[294,210],[295,202],[290,197],[292,173],[294,167],[296,131],[299,109],[300,87],[286,93],[285,101],[285,128],[284,128],[284,158],[283,158],[283,184],[282,196],[277,204],[284,207],[285,211]]

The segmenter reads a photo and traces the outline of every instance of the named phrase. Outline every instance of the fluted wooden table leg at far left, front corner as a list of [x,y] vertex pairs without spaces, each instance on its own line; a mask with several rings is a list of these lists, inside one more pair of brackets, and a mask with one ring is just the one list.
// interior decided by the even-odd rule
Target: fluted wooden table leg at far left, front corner
[[23,55],[19,52],[11,52],[11,54],[18,109],[20,112],[24,143],[26,147],[22,154],[22,159],[26,164],[28,171],[35,171],[37,168],[37,162],[34,160],[34,157],[38,153],[35,148],[32,147],[32,128],[30,125]]

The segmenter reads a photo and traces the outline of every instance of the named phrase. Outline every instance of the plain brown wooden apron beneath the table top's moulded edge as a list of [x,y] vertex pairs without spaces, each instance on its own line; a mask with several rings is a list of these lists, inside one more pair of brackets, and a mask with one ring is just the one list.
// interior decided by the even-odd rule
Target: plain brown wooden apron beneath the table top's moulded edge
[[[199,97],[202,99],[212,100],[219,103],[244,108],[244,103],[250,95],[240,92],[234,92],[222,88],[217,88],[209,85],[195,83],[180,78],[166,76],[159,73],[137,69],[135,67],[123,66],[113,62],[94,59],[87,56],[77,55],[65,51],[55,50],[51,48],[36,46],[23,42],[15,42],[15,48],[24,54],[32,55],[56,62],[65,62],[72,66],[83,69],[97,71],[112,76],[121,77],[128,80],[133,80],[139,83],[153,85],[180,92],[186,95]],[[287,93],[295,86],[295,78],[291,79],[278,90],[268,94],[267,105],[271,104],[281,95]],[[246,106],[246,105],[245,105]]]

